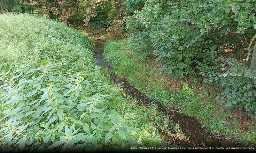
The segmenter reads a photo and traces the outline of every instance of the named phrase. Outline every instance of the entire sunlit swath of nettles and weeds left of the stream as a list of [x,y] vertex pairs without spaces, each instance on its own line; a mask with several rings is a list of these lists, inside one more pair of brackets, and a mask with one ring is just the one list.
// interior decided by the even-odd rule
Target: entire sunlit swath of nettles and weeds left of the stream
[[[154,126],[156,106],[126,98],[96,66],[90,46],[63,23],[0,15],[1,149],[123,150],[140,136],[141,146],[165,145]],[[168,120],[158,124],[168,127]]]

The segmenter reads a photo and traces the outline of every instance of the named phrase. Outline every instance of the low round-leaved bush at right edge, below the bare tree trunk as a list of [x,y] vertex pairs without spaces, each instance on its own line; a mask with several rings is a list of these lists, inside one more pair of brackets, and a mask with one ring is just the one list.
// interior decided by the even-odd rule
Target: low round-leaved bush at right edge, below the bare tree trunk
[[[220,58],[221,59],[221,58]],[[202,73],[207,79],[223,86],[224,90],[215,99],[226,108],[243,108],[251,117],[256,118],[256,70],[250,70],[235,58],[221,59],[220,72]]]

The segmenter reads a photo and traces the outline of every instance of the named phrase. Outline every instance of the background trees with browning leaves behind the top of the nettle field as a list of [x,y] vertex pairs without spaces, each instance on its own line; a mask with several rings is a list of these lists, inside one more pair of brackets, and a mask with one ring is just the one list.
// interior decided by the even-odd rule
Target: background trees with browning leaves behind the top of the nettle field
[[77,25],[79,21],[87,25],[91,18],[97,20],[97,15],[97,18],[106,20],[108,12],[114,7],[113,3],[113,0],[1,0],[0,13],[33,12],[47,18],[56,17],[65,23],[69,20],[71,24]]

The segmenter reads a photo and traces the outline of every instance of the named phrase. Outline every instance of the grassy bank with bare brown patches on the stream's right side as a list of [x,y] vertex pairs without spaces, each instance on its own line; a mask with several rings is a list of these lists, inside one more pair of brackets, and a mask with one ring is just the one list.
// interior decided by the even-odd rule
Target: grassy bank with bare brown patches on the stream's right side
[[105,60],[114,68],[114,73],[126,77],[130,84],[162,105],[198,118],[207,132],[221,134],[244,145],[256,145],[255,123],[242,125],[239,117],[234,117],[237,110],[216,105],[214,98],[220,89],[202,85],[201,78],[174,80],[166,76],[166,72],[158,71],[158,63],[150,58],[138,62],[143,55],[134,54],[123,43],[111,40],[105,45]]

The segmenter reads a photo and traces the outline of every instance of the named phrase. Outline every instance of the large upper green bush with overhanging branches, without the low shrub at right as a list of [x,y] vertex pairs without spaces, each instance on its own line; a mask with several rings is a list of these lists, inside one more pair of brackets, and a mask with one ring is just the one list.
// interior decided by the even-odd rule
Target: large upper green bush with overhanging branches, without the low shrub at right
[[239,45],[224,38],[256,28],[255,11],[253,0],[152,0],[128,17],[127,29],[131,43],[146,38],[144,46],[153,49],[155,60],[162,63],[160,70],[175,77],[199,75],[216,68],[220,45]]

